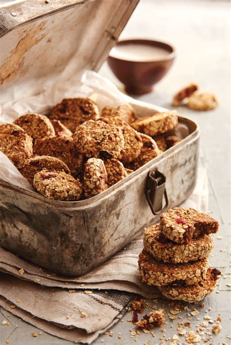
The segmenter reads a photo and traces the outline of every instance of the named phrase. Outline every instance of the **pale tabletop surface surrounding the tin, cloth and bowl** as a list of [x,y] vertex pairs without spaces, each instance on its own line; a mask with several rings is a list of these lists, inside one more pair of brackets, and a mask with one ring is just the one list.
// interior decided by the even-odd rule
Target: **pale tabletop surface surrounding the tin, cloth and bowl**
[[[217,109],[208,112],[195,112],[181,107],[179,113],[191,117],[199,124],[201,129],[200,141],[200,165],[205,166],[209,176],[209,211],[220,222],[219,236],[214,236],[215,248],[210,258],[212,267],[218,267],[227,278],[222,277],[216,292],[204,300],[205,307],[196,307],[200,311],[198,316],[192,316],[192,328],[205,321],[204,316],[211,316],[212,320],[222,318],[222,330],[214,335],[207,344],[230,344],[230,293],[231,265],[229,262],[230,240],[230,2],[229,1],[154,1],[141,0],[121,37],[145,37],[155,38],[171,42],[177,52],[177,58],[167,76],[155,87],[153,93],[137,97],[140,100],[154,103],[165,108],[172,109],[171,100],[173,94],[182,86],[194,81],[199,84],[202,91],[211,91],[219,99]],[[121,84],[109,71],[106,63],[100,73],[115,81],[118,87]],[[147,301],[148,302],[148,301]],[[152,303],[152,301],[151,301]],[[153,303],[152,303],[153,305]],[[159,303],[161,307],[161,303]],[[190,306],[193,310],[195,306]],[[151,310],[151,309],[150,309]],[[61,345],[72,344],[49,334],[43,334],[37,338],[32,337],[33,332],[39,333],[33,327],[9,312],[0,310],[0,323],[4,319],[11,322],[11,326],[0,326],[0,345]],[[182,312],[184,319],[187,311]],[[175,328],[181,320],[169,320],[165,336],[159,328],[154,329],[155,337],[141,332],[141,335],[131,337],[129,329],[131,323],[126,320],[131,318],[131,313],[124,315],[125,322],[118,322],[112,328],[113,336],[100,336],[94,345],[101,344],[165,344],[173,334],[177,334]],[[17,325],[17,327],[16,327]],[[173,325],[173,328],[171,327]],[[210,329],[212,329],[212,323]],[[118,339],[119,333],[121,339]],[[204,334],[206,338],[210,335]],[[163,340],[160,338],[163,337]],[[135,342],[135,339],[137,341]],[[148,341],[151,341],[148,343]],[[180,338],[184,343],[184,338]],[[201,341],[200,344],[203,344]]]

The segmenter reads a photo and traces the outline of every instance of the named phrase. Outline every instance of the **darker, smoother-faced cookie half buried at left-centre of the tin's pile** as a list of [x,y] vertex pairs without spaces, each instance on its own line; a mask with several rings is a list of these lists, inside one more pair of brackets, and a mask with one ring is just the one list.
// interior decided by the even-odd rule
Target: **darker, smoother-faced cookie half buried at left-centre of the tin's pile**
[[73,138],[65,135],[37,139],[34,144],[34,153],[60,159],[67,164],[74,176],[79,174],[83,162],[83,156],[77,152]]

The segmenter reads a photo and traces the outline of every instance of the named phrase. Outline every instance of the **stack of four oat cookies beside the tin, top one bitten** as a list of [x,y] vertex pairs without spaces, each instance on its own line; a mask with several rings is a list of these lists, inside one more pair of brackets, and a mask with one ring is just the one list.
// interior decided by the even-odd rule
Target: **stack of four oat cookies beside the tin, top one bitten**
[[160,216],[160,223],[145,229],[139,254],[142,281],[156,286],[172,300],[196,303],[209,295],[221,272],[209,268],[214,247],[210,234],[219,223],[193,208],[175,207]]

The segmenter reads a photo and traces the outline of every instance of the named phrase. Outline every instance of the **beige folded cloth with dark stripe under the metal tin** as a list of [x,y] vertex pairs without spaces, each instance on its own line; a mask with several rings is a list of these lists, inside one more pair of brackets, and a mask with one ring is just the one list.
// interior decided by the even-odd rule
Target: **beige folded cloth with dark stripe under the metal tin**
[[[205,170],[199,169],[198,176],[184,206],[206,212]],[[140,280],[137,259],[142,248],[142,239],[136,239],[81,277],[58,276],[0,248],[0,306],[50,334],[91,344],[122,317],[135,294],[160,296],[156,288]],[[12,305],[16,308],[11,309]]]

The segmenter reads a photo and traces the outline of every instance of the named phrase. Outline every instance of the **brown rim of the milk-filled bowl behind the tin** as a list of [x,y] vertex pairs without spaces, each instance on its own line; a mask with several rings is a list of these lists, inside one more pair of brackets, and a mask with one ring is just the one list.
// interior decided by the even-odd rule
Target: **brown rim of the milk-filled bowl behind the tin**
[[[149,60],[149,61],[135,61],[135,60],[127,60],[127,59],[123,59],[123,58],[119,58],[119,57],[115,57],[115,56],[112,56],[108,55],[109,58],[113,58],[115,60],[118,60],[118,61],[126,61],[126,62],[133,62],[133,63],[153,63],[153,62],[162,62],[162,61],[168,61],[168,60],[171,60],[173,59],[175,56],[176,56],[176,53],[175,53],[175,48],[173,47],[173,45],[171,45],[170,43],[168,42],[165,42],[165,41],[157,41],[155,39],[145,39],[145,38],[128,38],[128,39],[120,39],[116,42],[115,46],[116,45],[123,45],[123,44],[126,44],[126,43],[143,43],[143,44],[147,44],[147,45],[152,45],[152,46],[159,46],[159,47],[162,47],[162,48],[169,48],[170,49],[170,54],[166,55],[165,58],[163,59],[156,59],[156,60]],[[156,44],[157,43],[157,44]],[[166,49],[166,50],[169,50],[169,49]]]

